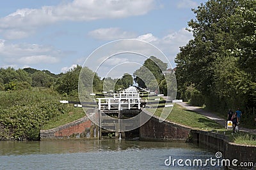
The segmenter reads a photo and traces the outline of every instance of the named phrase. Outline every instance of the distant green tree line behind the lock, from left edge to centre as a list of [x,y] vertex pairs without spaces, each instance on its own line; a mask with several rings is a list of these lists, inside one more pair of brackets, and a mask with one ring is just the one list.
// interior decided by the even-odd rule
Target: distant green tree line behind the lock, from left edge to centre
[[[152,73],[155,77],[153,79],[156,79],[156,82],[152,80],[152,76],[148,75],[147,71],[144,71],[145,68]],[[44,87],[54,89],[63,95],[78,97],[77,88],[81,69],[82,67],[77,65],[66,73],[54,74],[47,70],[40,71],[31,67],[24,69],[13,69],[12,67],[6,69],[1,68],[0,90],[8,91]],[[85,81],[91,80],[88,75],[93,76],[93,92],[109,90],[116,92],[121,89],[127,89],[134,83],[138,83],[139,87],[151,90],[156,90],[157,85],[159,85],[160,92],[166,94],[166,81],[161,71],[166,69],[166,63],[152,56],[145,60],[143,66],[134,71],[133,75],[124,73],[121,78],[100,78],[97,73],[93,73],[88,67],[83,68],[83,74],[87,75],[87,78],[84,78]],[[143,78],[143,80],[141,80],[141,78]]]

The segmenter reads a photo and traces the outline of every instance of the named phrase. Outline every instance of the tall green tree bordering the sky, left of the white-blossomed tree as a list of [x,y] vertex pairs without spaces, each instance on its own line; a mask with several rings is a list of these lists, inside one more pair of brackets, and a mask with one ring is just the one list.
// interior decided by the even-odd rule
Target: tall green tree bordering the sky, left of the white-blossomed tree
[[[214,76],[212,64],[216,61],[216,54],[236,45],[234,32],[227,20],[227,17],[234,15],[236,5],[234,0],[209,0],[193,10],[196,20],[188,22],[194,39],[186,47],[180,48],[181,54],[177,55],[176,62],[187,61],[189,81],[193,81],[196,89],[204,95],[211,94]],[[183,57],[186,58],[184,61]],[[185,68],[179,66],[178,69]]]

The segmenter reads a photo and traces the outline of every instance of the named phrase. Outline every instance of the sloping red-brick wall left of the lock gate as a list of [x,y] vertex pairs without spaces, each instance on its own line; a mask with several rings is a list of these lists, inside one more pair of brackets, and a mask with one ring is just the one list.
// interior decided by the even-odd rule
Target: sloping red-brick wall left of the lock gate
[[40,138],[98,138],[99,129],[88,117],[49,130],[41,130]]

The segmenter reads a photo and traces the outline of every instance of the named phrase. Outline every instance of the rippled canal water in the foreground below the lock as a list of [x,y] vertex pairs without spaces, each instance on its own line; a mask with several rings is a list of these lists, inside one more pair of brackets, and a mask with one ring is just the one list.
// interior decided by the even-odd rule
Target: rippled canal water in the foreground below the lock
[[[1,169],[224,169],[209,162],[204,166],[211,157],[216,159],[215,153],[190,143],[117,139],[0,141]],[[180,164],[173,163],[174,159],[180,159]],[[194,166],[193,161],[199,159],[202,166],[200,162]]]

